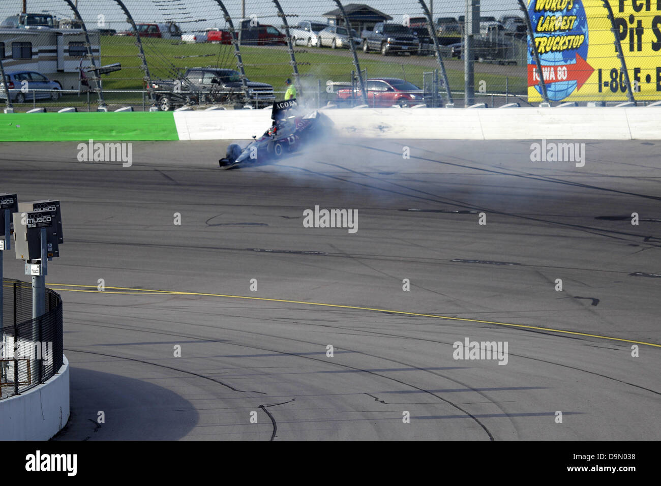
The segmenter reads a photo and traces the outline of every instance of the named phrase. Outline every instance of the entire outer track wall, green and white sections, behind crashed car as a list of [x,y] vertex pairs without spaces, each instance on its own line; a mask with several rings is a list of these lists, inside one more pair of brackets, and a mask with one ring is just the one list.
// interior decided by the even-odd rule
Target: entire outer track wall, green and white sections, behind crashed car
[[[322,109],[343,136],[446,140],[660,140],[661,106]],[[0,114],[0,142],[249,140],[271,109]]]

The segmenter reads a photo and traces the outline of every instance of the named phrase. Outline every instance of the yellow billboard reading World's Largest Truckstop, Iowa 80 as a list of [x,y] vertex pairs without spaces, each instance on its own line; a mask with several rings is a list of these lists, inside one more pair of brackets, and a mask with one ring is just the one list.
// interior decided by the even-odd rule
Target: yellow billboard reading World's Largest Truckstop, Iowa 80
[[[661,0],[610,0],[637,100],[661,99]],[[602,0],[529,0],[551,101],[627,101],[627,82]],[[542,101],[528,49],[528,101]]]

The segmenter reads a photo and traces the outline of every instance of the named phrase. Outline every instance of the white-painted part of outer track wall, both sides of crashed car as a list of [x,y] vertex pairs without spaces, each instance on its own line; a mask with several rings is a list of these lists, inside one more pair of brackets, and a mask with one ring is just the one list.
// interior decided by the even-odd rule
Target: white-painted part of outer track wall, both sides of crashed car
[[[358,138],[447,140],[661,140],[661,106],[633,108],[324,109],[338,132]],[[270,110],[175,112],[180,140],[249,140]]]

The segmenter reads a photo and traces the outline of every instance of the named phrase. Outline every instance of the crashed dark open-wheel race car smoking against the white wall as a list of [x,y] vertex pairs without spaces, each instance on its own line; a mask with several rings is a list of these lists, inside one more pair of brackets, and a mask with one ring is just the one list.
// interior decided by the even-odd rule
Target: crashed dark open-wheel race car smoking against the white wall
[[331,130],[331,120],[314,110],[302,114],[296,100],[276,101],[271,119],[273,124],[260,138],[241,148],[238,143],[227,147],[227,154],[218,161],[221,169],[245,167],[281,159],[298,151],[313,140],[319,140]]

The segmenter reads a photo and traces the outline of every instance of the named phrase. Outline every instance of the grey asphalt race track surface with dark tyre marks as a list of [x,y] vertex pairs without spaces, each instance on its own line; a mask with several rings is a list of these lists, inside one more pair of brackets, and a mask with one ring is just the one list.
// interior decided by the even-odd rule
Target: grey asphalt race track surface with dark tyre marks
[[[3,191],[61,200],[57,438],[659,440],[659,144],[587,142],[576,167],[531,143],[339,140],[231,171],[214,142],[136,142],[131,167],[4,143]],[[358,231],[303,227],[315,205]],[[28,279],[9,255],[5,277]],[[455,360],[465,339],[506,364]]]

